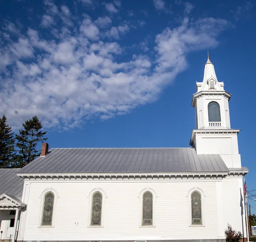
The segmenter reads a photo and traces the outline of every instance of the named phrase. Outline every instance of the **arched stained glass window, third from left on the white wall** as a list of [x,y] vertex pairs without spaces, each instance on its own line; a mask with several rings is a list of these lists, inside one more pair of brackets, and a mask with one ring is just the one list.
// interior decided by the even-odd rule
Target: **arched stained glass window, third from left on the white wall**
[[153,223],[153,195],[150,191],[143,194],[142,225]]

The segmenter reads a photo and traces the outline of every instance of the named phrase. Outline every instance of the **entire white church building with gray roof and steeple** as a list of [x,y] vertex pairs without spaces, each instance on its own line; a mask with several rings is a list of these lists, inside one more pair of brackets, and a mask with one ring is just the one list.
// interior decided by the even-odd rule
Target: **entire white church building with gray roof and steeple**
[[[244,232],[231,94],[209,60],[196,83],[192,148],[51,148],[0,169],[0,236],[24,242],[224,242]],[[242,191],[242,192],[241,192]]]

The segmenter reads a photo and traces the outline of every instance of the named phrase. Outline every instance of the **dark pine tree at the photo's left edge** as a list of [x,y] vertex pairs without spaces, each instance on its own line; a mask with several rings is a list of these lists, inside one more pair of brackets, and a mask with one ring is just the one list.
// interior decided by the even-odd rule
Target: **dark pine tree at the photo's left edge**
[[6,117],[0,118],[0,168],[10,168],[15,159],[15,138]]

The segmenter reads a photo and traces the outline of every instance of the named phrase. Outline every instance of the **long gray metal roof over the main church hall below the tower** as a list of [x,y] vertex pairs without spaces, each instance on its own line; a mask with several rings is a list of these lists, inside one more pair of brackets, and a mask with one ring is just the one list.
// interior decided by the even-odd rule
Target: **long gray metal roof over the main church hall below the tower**
[[227,172],[218,154],[193,148],[52,148],[19,173]]

